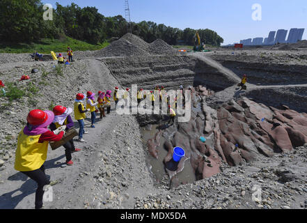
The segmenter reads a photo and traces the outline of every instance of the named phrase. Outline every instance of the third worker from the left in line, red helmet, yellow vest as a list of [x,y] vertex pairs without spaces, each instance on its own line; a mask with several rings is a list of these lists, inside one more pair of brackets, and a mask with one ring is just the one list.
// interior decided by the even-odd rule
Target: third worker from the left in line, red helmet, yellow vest
[[83,105],[84,102],[84,95],[82,93],[78,93],[76,95],[76,99],[74,100],[74,118],[79,123],[79,141],[84,142],[83,134],[87,134],[84,130],[84,119],[86,118],[86,112],[88,112],[88,109],[84,108]]

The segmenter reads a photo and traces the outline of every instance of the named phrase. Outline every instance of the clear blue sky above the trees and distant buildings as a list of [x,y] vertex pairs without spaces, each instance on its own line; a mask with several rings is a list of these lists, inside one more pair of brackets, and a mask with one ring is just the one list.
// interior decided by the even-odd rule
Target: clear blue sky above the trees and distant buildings
[[[104,16],[123,15],[124,0],[42,0],[56,7],[74,2],[80,7],[95,6]],[[262,7],[262,20],[252,20],[254,3]],[[223,45],[241,39],[267,37],[277,29],[305,28],[306,0],[129,0],[133,22],[152,21],[179,29],[212,29],[224,39]]]

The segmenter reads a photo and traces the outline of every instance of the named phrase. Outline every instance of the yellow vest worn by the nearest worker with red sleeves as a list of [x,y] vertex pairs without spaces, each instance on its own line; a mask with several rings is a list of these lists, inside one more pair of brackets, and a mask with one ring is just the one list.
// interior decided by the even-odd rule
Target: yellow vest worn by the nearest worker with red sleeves
[[15,152],[15,169],[17,171],[33,171],[40,169],[47,158],[48,143],[38,143],[41,134],[27,135],[19,132]]

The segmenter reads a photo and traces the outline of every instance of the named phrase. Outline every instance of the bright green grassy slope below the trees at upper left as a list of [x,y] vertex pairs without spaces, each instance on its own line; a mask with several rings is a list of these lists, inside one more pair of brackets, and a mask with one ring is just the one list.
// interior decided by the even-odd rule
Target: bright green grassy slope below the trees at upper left
[[42,39],[37,43],[0,43],[0,53],[30,53],[39,52],[40,54],[50,54],[54,52],[66,52],[67,47],[70,46],[73,51],[86,51],[86,50],[99,50],[107,47],[108,42],[101,43],[99,45],[93,45],[83,42],[81,40],[75,40],[70,37],[63,38],[63,40],[56,39]]

